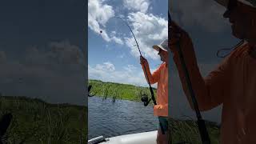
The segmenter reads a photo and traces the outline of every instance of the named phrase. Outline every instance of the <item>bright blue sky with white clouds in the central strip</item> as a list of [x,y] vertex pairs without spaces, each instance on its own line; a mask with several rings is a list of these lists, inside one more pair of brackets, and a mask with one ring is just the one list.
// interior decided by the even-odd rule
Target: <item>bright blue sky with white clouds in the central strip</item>
[[152,46],[168,38],[167,5],[167,0],[89,0],[89,78],[146,86],[134,38],[124,22],[112,17],[129,23],[153,71],[161,61]]

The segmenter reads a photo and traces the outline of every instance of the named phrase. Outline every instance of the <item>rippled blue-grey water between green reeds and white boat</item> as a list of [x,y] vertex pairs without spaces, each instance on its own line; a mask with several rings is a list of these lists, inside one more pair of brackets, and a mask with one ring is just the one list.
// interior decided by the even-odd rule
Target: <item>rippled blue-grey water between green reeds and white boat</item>
[[101,97],[88,98],[88,138],[103,135],[106,138],[158,129],[153,105]]

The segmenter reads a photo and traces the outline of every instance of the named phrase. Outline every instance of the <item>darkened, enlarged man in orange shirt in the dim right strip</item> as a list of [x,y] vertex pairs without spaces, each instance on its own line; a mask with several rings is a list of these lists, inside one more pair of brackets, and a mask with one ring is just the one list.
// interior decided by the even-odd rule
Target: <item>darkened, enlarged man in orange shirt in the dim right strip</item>
[[218,3],[227,7],[223,16],[230,19],[233,35],[245,42],[215,70],[202,78],[190,36],[174,22],[169,23],[169,47],[190,106],[193,108],[178,48],[184,55],[199,109],[210,110],[222,104],[221,143],[256,143],[256,2],[218,0]]

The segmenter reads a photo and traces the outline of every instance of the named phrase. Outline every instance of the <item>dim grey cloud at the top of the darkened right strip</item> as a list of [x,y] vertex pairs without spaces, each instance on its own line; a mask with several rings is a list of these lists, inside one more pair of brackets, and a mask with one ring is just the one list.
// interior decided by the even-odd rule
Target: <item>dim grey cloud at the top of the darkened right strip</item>
[[182,26],[202,26],[208,32],[225,29],[227,21],[222,18],[225,8],[214,1],[179,0],[173,2],[172,17]]

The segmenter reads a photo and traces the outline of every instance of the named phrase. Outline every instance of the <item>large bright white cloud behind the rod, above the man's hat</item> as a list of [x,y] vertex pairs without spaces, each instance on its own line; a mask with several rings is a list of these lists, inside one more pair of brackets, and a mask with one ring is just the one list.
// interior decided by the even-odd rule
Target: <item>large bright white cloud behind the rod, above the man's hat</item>
[[[152,46],[168,38],[167,20],[154,16],[154,14],[143,14],[141,12],[130,13],[128,18],[131,26],[134,27],[133,32],[142,54],[145,54],[146,58],[158,59],[157,51]],[[130,47],[131,54],[138,57],[138,47],[134,44],[136,43],[133,37],[126,38],[126,45]]]

